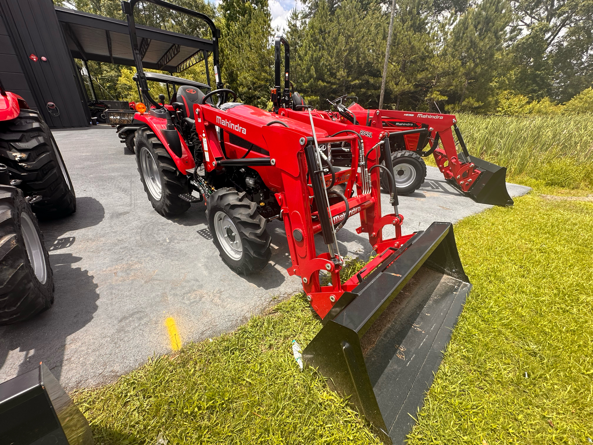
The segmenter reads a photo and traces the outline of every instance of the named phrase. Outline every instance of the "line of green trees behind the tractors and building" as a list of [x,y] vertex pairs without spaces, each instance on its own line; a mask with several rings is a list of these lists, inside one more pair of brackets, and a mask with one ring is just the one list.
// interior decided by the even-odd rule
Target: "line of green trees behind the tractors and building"
[[[174,2],[213,17],[222,30],[222,80],[242,101],[269,107],[272,42],[279,31],[272,28],[267,0],[222,0],[218,8],[203,0]],[[68,5],[124,18],[117,0]],[[291,11],[285,30],[295,88],[322,109],[326,99],[342,94],[377,107],[392,2],[301,5]],[[394,5],[386,108],[548,113],[593,107],[593,0],[395,0]],[[209,36],[204,24],[156,5],[141,4],[137,11],[138,23]],[[112,96],[135,90],[125,67],[92,63],[91,74],[105,80]],[[205,80],[203,65],[178,75]]]

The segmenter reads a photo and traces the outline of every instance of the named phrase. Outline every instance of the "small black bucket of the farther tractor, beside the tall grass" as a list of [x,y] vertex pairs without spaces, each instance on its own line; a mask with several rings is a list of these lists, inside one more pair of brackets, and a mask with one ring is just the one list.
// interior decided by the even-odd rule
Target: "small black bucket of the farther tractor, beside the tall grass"
[[[482,173],[477,177],[476,182],[467,190],[466,195],[479,202],[480,204],[490,205],[513,205],[513,199],[506,190],[506,167],[500,167],[483,159],[469,155],[464,156],[463,153],[458,154],[460,161],[471,162],[477,170]],[[449,182],[459,189],[459,185],[454,180]]]

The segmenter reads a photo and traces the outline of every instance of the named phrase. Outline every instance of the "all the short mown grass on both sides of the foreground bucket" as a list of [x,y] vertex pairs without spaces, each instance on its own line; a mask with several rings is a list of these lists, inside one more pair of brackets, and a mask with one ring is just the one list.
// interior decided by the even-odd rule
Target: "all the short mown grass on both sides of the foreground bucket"
[[[532,194],[455,236],[474,288],[410,443],[588,443],[593,204]],[[298,295],[74,399],[97,444],[378,443],[321,376],[298,371],[291,341],[305,347],[320,326]]]

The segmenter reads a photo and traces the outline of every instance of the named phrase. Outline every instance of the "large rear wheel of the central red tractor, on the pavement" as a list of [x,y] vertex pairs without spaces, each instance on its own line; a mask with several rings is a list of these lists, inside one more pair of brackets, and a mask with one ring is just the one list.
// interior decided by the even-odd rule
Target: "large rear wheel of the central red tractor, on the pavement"
[[[148,195],[148,200],[157,212],[165,217],[182,214],[190,208],[187,201],[179,198],[181,193],[187,193],[187,177],[177,169],[177,166],[171,159],[171,156],[165,149],[161,141],[148,127],[142,127],[136,130],[135,150],[136,164],[138,164],[138,173],[140,180],[144,185],[144,191]],[[158,196],[151,192],[151,184],[145,179],[145,172],[142,167],[142,157],[148,153],[157,167],[157,183],[161,187],[161,195]],[[146,177],[150,177],[146,172]]]

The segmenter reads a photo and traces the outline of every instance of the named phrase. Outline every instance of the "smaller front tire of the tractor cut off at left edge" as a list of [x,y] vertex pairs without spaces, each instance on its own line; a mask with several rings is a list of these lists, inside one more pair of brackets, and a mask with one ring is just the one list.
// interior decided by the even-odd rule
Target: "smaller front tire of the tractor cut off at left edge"
[[52,304],[52,268],[37,218],[20,189],[0,185],[0,325],[26,320]]

